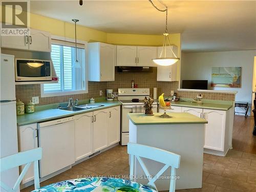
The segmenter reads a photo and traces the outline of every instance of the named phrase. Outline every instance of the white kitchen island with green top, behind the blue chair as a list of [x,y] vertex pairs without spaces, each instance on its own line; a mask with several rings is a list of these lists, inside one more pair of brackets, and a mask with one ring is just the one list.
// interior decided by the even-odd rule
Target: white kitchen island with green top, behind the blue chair
[[[170,118],[161,118],[162,113],[145,116],[141,113],[128,114],[129,142],[154,146],[181,156],[180,168],[176,170],[176,189],[201,188],[203,172],[204,124],[207,120],[189,113],[167,113]],[[162,163],[143,159],[150,174],[163,167]],[[144,172],[135,161],[135,176],[144,176]],[[169,190],[170,168],[156,181],[158,190]],[[140,177],[138,177],[140,178]],[[136,179],[146,184],[147,179]]]

